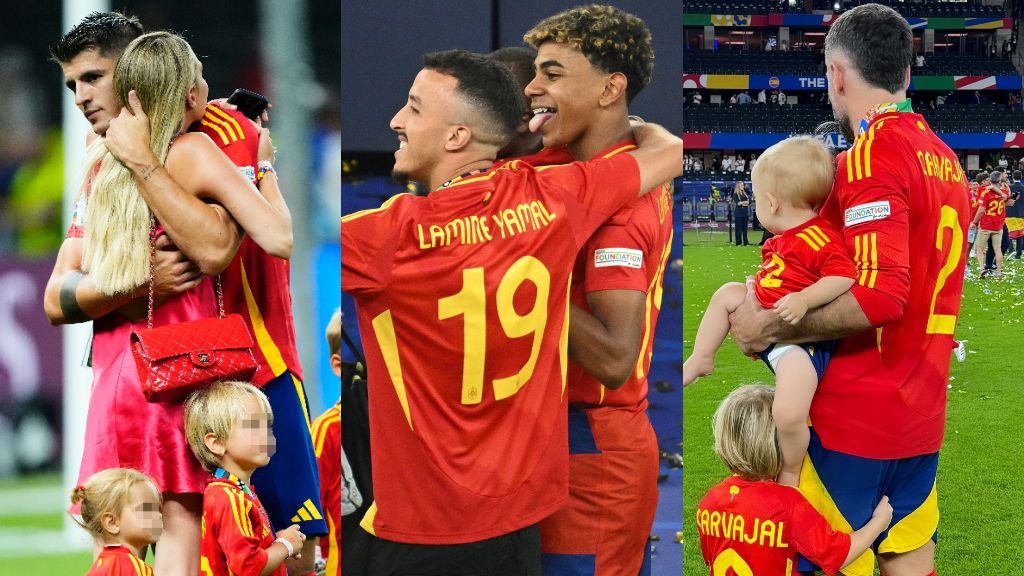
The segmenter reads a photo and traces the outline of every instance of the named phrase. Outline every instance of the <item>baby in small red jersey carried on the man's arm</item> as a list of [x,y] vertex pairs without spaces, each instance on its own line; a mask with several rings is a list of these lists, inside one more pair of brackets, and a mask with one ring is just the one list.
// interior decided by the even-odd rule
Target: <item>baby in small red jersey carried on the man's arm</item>
[[[824,305],[853,286],[857,271],[842,237],[818,216],[831,190],[835,163],[818,140],[787,138],[765,151],[751,174],[757,214],[776,236],[761,248],[762,264],[754,281],[761,305],[797,324],[808,310]],[[730,282],[712,297],[683,365],[683,385],[715,368],[715,353],[729,332],[729,315],[746,299],[746,287]],[[835,341],[773,345],[761,353],[775,372],[774,407],[782,447],[778,481],[796,486],[807,453],[807,414]]]

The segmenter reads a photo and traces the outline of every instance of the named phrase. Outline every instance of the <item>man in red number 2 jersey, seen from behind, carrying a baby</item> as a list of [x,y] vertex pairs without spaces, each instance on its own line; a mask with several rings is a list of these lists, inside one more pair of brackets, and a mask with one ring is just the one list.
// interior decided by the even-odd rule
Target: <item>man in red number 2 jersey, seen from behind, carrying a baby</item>
[[[749,354],[845,337],[811,405],[800,488],[847,531],[888,495],[893,526],[874,543],[888,576],[935,572],[935,478],[970,223],[956,156],[906,99],[912,56],[910,29],[891,8],[858,6],[831,26],[828,95],[853,146],[839,156],[821,215],[842,231],[857,282],[797,326],[752,298],[730,319]],[[844,573],[870,575],[870,557]]]

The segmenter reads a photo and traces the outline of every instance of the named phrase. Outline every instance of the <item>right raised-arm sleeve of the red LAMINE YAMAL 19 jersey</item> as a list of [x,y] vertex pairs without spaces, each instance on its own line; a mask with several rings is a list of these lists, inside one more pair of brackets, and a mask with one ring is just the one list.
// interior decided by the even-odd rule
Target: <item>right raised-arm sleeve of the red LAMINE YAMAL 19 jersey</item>
[[538,168],[538,182],[565,197],[577,246],[583,246],[594,231],[639,196],[640,166],[630,154],[616,154]]

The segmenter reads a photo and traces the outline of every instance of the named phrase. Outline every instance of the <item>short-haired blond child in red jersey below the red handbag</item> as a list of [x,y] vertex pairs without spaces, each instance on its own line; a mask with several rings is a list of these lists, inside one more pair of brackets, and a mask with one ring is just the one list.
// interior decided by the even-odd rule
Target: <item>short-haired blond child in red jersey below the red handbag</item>
[[204,575],[287,576],[285,560],[302,550],[299,527],[274,534],[249,486],[253,470],[273,454],[272,418],[266,397],[248,382],[217,382],[185,403],[188,446],[213,474],[203,493]]

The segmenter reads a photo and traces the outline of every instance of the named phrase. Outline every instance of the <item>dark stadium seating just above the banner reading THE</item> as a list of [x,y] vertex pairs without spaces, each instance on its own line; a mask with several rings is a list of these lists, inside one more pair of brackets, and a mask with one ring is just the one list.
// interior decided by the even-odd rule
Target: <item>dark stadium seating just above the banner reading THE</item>
[[[803,50],[686,50],[687,74],[772,74],[820,76],[824,60],[820,53]],[[925,55],[925,66],[915,76],[1017,76],[1009,58],[984,54],[935,52]]]

